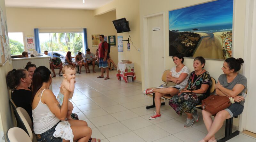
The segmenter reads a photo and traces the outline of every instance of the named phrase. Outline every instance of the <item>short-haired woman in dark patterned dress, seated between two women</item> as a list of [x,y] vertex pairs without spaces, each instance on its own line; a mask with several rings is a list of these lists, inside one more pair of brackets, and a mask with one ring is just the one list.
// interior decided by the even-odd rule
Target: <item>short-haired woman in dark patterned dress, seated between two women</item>
[[205,59],[196,57],[193,62],[195,71],[190,73],[188,84],[178,95],[173,96],[169,105],[178,115],[185,113],[187,121],[184,127],[191,127],[194,121],[198,121],[196,105],[209,96],[212,80],[208,71],[204,70]]

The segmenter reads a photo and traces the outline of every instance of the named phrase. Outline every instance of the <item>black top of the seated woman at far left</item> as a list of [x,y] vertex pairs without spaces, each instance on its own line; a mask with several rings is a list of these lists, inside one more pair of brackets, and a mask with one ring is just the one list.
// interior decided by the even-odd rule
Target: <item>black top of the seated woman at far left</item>
[[28,112],[28,115],[30,116],[33,122],[31,96],[32,96],[32,91],[25,90],[25,89],[14,90],[12,93],[12,100],[14,101],[17,107],[24,108]]

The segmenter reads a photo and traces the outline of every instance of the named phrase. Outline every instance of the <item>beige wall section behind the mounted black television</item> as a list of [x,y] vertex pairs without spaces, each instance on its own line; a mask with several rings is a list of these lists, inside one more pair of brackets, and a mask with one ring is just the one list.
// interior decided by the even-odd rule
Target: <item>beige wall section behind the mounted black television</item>
[[[129,27],[131,29],[130,36],[133,45],[137,49],[140,47],[140,10],[138,0],[113,0],[99,9],[94,11],[95,15],[100,15],[109,10],[116,9],[116,19],[126,18],[129,21]],[[123,36],[124,40],[129,38],[128,32],[118,33],[118,36]],[[131,51],[127,51],[127,41],[123,42],[124,52],[118,52],[119,62],[121,60],[127,59],[134,63],[134,70],[136,72],[136,80],[141,82],[141,52],[137,51],[131,43]]]

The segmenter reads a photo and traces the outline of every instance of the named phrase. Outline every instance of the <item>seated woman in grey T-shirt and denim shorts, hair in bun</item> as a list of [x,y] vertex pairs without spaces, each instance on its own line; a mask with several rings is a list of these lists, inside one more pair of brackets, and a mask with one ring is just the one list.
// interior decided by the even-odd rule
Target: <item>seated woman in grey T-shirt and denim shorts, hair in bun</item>
[[203,119],[208,134],[200,142],[216,142],[215,133],[220,130],[224,120],[234,116],[242,114],[244,110],[244,97],[243,93],[246,92],[247,79],[239,74],[238,71],[244,64],[242,58],[228,58],[223,63],[221,68],[223,73],[218,79],[218,83],[215,85],[216,94],[219,96],[232,97],[235,103],[231,104],[228,108],[219,111],[214,121],[212,121],[212,114],[208,111],[203,110]]

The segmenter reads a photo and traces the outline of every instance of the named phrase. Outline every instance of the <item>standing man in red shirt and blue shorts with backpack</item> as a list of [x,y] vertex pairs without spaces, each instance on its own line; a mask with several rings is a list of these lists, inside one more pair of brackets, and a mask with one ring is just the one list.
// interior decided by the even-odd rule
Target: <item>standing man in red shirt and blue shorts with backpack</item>
[[104,42],[104,35],[100,35],[100,45],[99,45],[99,53],[98,53],[98,62],[99,62],[99,67],[100,67],[100,70],[101,70],[101,75],[97,78],[104,78],[104,69],[106,69],[107,71],[107,77],[105,78],[106,79],[109,79],[109,76],[108,76],[108,61],[107,61],[107,54],[108,54],[108,43],[107,42]]

